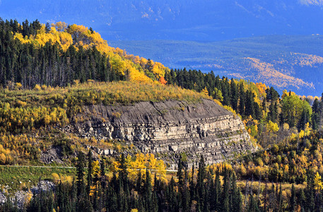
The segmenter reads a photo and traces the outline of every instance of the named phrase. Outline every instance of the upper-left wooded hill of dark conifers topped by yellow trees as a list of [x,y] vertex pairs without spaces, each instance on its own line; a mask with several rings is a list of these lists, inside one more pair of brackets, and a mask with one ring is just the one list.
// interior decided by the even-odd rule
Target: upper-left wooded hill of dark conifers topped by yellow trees
[[40,24],[0,19],[0,84],[13,88],[68,86],[74,80],[158,81],[168,68],[109,47],[82,25]]

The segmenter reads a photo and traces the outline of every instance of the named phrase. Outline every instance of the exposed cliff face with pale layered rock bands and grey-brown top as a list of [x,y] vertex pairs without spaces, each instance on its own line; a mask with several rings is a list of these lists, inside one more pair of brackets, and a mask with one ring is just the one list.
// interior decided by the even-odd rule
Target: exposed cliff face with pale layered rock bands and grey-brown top
[[188,165],[204,155],[206,163],[219,163],[237,153],[254,151],[242,121],[213,102],[188,104],[175,100],[135,105],[86,106],[65,131],[97,139],[121,139],[143,153],[154,153],[170,165],[185,153]]

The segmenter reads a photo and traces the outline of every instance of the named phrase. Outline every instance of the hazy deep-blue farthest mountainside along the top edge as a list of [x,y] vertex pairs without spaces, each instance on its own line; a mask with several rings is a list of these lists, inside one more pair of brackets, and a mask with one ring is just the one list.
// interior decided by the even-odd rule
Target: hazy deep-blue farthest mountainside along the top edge
[[322,0],[0,1],[2,18],[88,25],[106,40],[323,34]]

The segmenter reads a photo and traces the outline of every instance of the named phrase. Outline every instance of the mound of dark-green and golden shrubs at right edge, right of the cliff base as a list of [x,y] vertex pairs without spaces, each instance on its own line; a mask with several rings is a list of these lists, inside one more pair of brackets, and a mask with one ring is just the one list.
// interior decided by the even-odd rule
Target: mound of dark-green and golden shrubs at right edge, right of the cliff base
[[286,139],[270,146],[266,151],[255,153],[252,158],[240,158],[242,160],[234,163],[233,169],[242,179],[254,177],[296,184],[306,183],[310,171],[315,179],[315,189],[319,191],[322,189],[323,140],[318,136],[319,134],[310,132],[305,140],[297,136]]

